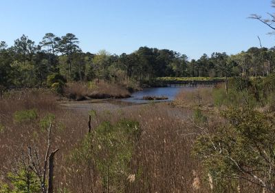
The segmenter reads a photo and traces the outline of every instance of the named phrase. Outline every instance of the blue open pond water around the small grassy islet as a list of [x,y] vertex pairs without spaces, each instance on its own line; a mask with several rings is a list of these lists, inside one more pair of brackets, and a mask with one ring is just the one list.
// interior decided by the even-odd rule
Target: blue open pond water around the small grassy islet
[[[144,88],[144,90],[134,92],[130,98],[122,99],[122,101],[130,103],[149,103],[150,101],[142,100],[143,96],[167,96],[167,100],[162,101],[173,101],[175,96],[181,90],[193,90],[194,88]],[[156,100],[157,101],[157,100]]]

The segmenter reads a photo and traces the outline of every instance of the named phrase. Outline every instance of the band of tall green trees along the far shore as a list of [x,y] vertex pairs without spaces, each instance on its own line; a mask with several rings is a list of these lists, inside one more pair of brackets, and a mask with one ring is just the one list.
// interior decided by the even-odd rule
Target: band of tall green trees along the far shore
[[225,52],[188,60],[173,50],[140,47],[131,54],[83,52],[78,38],[68,33],[56,37],[47,33],[40,43],[23,35],[8,47],[0,44],[0,85],[45,85],[50,74],[67,81],[142,81],[155,77],[266,76],[275,71],[274,49],[250,48],[229,56]]

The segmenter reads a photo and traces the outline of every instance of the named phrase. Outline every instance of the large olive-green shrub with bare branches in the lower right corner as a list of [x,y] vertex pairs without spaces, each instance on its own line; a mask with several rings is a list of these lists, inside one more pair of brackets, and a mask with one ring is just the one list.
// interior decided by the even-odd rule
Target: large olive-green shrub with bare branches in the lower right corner
[[274,192],[274,118],[250,109],[230,109],[223,115],[228,123],[214,132],[205,130],[195,143],[206,174],[223,187],[225,179],[239,179]]

